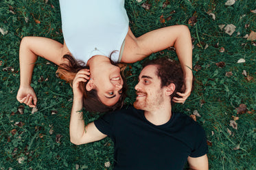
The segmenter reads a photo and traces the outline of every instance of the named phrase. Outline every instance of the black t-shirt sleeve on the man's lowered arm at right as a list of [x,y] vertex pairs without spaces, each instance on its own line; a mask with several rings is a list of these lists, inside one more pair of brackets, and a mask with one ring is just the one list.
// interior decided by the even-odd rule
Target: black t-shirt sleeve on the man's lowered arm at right
[[198,125],[198,130],[196,132],[196,140],[195,140],[195,147],[192,150],[191,154],[189,155],[192,158],[197,158],[200,156],[204,156],[208,153],[208,145],[207,139],[205,136],[205,130]]

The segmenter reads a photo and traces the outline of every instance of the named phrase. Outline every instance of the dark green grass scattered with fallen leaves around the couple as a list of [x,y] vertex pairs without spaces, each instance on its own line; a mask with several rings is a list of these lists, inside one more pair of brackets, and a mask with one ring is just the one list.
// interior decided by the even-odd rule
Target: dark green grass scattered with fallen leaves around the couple
[[[188,115],[197,110],[202,116],[197,119],[207,134],[210,169],[256,169],[256,47],[255,41],[243,38],[256,31],[256,14],[251,12],[256,1],[236,1],[231,6],[225,2],[127,0],[126,10],[135,36],[168,25],[189,26],[194,40],[195,88],[186,103],[176,104],[174,110]],[[142,8],[143,3],[150,4],[150,9]],[[215,14],[216,20],[207,12]],[[38,112],[32,114],[32,109],[16,101],[21,38],[44,36],[62,42],[58,1],[3,0],[0,14],[0,28],[8,31],[0,34],[0,169],[113,169],[113,143],[109,138],[87,145],[70,143],[73,94],[69,84],[56,78],[54,63],[39,58],[34,68],[32,87],[38,96]],[[162,15],[165,22],[160,20]],[[197,22],[189,25],[192,16]],[[232,36],[219,28],[223,24],[236,26]],[[149,58],[162,55],[177,59],[170,50]],[[241,58],[246,62],[237,63]],[[216,66],[220,61],[224,67]],[[132,87],[137,83],[142,62],[130,64],[128,104],[135,99]],[[232,75],[226,76],[226,72]],[[240,104],[246,104],[245,113],[237,113]],[[98,116],[86,113],[84,119],[91,122]],[[229,125],[232,116],[239,117],[235,121],[237,130]],[[105,166],[106,162],[110,167]]]

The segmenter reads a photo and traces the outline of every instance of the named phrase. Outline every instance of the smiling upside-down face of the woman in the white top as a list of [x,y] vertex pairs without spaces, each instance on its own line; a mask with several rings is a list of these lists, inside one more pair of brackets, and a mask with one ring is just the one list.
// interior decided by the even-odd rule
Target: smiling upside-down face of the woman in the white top
[[102,103],[113,106],[120,98],[124,81],[121,79],[120,68],[112,64],[102,66],[91,72],[93,84]]

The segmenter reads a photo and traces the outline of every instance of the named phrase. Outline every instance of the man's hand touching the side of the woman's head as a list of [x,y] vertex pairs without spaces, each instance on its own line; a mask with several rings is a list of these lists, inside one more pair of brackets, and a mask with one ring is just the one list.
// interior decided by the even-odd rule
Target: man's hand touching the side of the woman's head
[[75,78],[73,79],[73,98],[76,99],[82,99],[83,94],[84,94],[84,88],[82,87],[82,82],[88,81],[90,75],[90,70],[89,69],[83,69],[80,70],[76,75]]

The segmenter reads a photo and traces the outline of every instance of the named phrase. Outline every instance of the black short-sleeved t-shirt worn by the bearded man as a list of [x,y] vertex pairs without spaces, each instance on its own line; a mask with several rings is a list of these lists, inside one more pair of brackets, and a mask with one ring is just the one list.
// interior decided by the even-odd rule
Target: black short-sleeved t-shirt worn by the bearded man
[[189,116],[172,113],[155,126],[134,107],[107,113],[95,126],[115,143],[115,168],[120,170],[183,169],[187,157],[207,154],[205,131]]

